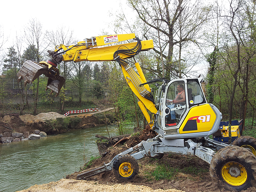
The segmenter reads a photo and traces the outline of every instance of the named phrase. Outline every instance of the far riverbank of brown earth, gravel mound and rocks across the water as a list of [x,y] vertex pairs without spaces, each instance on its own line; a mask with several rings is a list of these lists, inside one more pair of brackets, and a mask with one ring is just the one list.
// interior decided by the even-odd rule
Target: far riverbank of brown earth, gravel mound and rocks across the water
[[[105,109],[109,111],[112,108]],[[15,139],[18,136],[12,137],[13,133],[19,133],[24,138],[34,133],[35,130],[45,132],[47,135],[64,133],[72,129],[84,129],[89,127],[96,127],[100,125],[110,124],[112,119],[111,112],[107,117],[98,113],[73,115],[70,117],[63,116],[56,112],[41,113],[37,116],[33,115],[2,115],[0,116],[0,143],[20,141],[22,139]],[[107,121],[107,122],[106,122]],[[8,137],[8,138],[7,138]]]

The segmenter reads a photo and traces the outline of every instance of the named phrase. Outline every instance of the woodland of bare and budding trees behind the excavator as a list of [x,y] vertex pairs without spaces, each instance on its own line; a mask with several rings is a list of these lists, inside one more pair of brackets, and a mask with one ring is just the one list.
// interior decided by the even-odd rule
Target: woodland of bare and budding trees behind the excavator
[[[135,33],[140,40],[153,39],[154,49],[129,59],[140,66],[148,81],[164,77],[197,77],[206,82],[206,98],[216,105],[224,120],[244,119],[251,136],[256,110],[256,18],[255,1],[230,0],[127,0],[134,15],[128,19],[120,9],[111,13],[109,24],[116,34]],[[58,68],[66,82],[58,97],[44,91],[47,78],[41,75],[32,85],[17,82],[17,72],[26,60],[47,60],[55,45],[76,44],[71,27],[48,30],[36,18],[28,21],[12,46],[0,25],[1,113],[36,115],[56,111],[115,107],[123,126],[142,126],[137,99],[116,62],[62,62]],[[110,35],[103,29],[101,35]],[[126,41],[127,42],[127,41]],[[203,70],[205,69],[205,70]],[[135,123],[134,123],[135,122]]]

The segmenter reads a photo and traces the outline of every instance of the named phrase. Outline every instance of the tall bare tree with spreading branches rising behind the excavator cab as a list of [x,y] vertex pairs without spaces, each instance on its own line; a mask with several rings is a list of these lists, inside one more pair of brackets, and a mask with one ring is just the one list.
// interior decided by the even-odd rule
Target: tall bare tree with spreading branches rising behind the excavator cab
[[[153,38],[154,51],[159,60],[161,56],[164,58],[165,78],[181,77],[188,72],[186,67],[190,64],[186,59],[184,48],[191,43],[198,45],[200,29],[210,19],[211,7],[204,6],[199,0],[172,2],[170,0],[129,0],[128,2],[142,21],[140,26],[143,36],[146,39]],[[183,61],[183,67],[181,61]],[[162,74],[163,67],[156,67],[156,69],[159,70],[158,74]]]

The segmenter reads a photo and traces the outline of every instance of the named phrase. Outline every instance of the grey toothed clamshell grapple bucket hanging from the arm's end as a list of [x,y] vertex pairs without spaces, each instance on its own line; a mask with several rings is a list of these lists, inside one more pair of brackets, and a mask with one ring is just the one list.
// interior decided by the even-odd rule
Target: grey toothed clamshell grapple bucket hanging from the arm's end
[[33,61],[26,61],[17,73],[17,76],[19,77],[18,82],[22,79],[24,80],[24,86],[26,86],[27,83],[31,84],[41,74],[48,77],[46,90],[51,89],[52,92],[57,93],[56,96],[59,95],[65,79],[59,74],[59,70],[57,68],[45,61],[38,64]]

